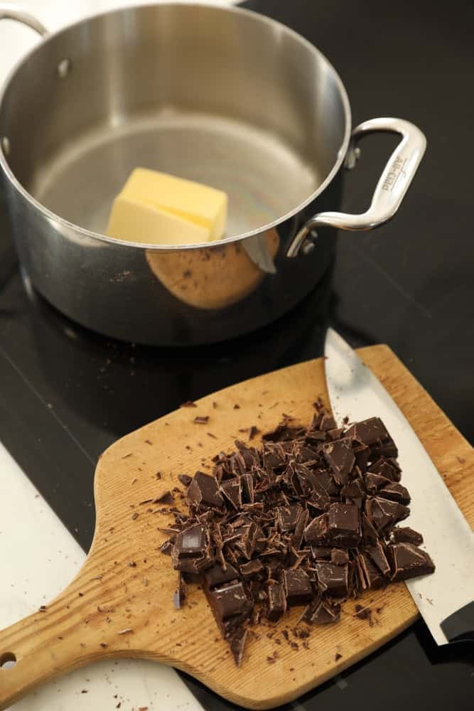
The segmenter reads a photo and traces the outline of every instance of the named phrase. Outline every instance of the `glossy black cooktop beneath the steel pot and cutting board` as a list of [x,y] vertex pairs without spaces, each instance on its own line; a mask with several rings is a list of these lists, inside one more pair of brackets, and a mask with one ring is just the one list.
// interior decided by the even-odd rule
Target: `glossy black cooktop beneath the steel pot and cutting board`
[[[389,343],[470,442],[474,356],[474,6],[418,0],[252,0],[308,37],[348,89],[354,124],[410,119],[428,149],[392,223],[338,237],[335,264],[281,321],[192,350],[109,341],[65,319],[21,274],[0,195],[0,439],[82,547],[92,540],[99,453],[184,400],[322,353],[332,324],[352,346]],[[393,139],[373,137],[345,183],[370,200]],[[232,705],[185,678],[206,709]],[[437,648],[422,622],[285,708],[472,710],[472,647]],[[299,705],[298,705],[299,704]]]

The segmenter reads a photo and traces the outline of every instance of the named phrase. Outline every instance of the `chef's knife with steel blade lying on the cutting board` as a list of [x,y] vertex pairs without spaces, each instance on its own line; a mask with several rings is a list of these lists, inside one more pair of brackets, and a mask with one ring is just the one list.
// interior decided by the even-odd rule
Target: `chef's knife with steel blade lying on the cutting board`
[[325,339],[325,375],[333,415],[357,422],[380,417],[399,450],[411,495],[408,525],[423,534],[431,575],[406,581],[438,644],[474,640],[474,532],[423,445],[392,397],[332,328]]

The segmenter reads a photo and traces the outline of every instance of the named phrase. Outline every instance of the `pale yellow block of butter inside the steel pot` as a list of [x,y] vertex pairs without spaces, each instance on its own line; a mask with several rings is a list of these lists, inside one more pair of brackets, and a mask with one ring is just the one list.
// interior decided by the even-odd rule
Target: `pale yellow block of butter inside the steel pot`
[[190,245],[220,240],[226,221],[226,193],[136,168],[114,200],[106,234],[127,242]]

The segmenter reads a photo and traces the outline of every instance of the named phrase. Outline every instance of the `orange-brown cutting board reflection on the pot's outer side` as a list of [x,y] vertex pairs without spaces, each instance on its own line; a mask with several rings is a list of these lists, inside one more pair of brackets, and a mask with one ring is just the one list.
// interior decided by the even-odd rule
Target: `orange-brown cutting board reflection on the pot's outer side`
[[[278,232],[268,230],[259,240],[268,262],[273,262],[280,245]],[[257,289],[266,271],[274,271],[252,260],[242,242],[198,250],[147,250],[146,261],[176,299],[208,310],[237,304]]]

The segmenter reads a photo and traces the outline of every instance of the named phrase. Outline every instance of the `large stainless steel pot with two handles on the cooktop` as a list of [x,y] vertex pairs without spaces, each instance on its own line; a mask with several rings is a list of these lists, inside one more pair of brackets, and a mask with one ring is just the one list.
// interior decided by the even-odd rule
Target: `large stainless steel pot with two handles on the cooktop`
[[[18,255],[51,304],[114,338],[205,343],[276,319],[321,278],[334,246],[328,228],[389,220],[424,153],[424,135],[401,119],[372,119],[351,134],[328,60],[250,11],[141,6],[53,34],[11,6],[0,5],[2,17],[44,36],[0,97]],[[370,208],[328,211],[340,206],[359,139],[379,131],[402,140]],[[171,248],[104,236],[136,166],[225,190],[225,240]]]

